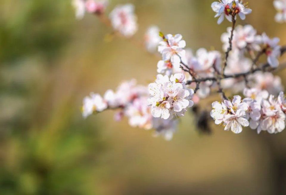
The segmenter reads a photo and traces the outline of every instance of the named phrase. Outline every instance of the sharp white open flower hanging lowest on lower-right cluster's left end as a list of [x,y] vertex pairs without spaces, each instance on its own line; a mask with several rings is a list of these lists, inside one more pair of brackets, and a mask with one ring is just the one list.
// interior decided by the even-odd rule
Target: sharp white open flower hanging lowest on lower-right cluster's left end
[[231,129],[231,131],[234,133],[242,132],[242,126],[243,127],[249,126],[248,120],[244,118],[245,116],[246,113],[242,109],[237,110],[237,112],[234,114],[227,114],[224,117],[224,125],[225,125],[224,130],[228,131],[229,129]]

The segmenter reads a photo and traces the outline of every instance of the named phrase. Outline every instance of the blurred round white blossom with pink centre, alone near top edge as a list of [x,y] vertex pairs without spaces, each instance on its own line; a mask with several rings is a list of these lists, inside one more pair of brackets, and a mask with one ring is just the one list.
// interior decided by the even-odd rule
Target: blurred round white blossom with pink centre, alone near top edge
[[126,37],[134,35],[138,30],[133,4],[117,5],[109,14],[109,18],[114,30]]

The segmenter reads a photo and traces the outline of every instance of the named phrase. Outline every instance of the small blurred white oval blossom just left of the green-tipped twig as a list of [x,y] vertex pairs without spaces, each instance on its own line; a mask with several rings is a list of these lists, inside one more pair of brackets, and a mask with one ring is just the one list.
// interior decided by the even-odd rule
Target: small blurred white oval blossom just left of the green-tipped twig
[[145,40],[145,47],[148,52],[156,52],[157,47],[162,40],[159,36],[160,29],[158,26],[150,26],[145,33],[144,40]]

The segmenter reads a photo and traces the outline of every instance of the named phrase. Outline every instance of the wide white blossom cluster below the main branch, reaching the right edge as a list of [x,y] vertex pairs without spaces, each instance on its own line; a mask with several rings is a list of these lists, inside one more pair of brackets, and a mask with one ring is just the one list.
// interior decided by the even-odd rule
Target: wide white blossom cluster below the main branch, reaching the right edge
[[278,98],[265,90],[245,88],[245,99],[234,96],[232,101],[213,102],[211,117],[215,124],[223,123],[225,130],[242,132],[242,126],[257,129],[257,133],[268,131],[278,133],[285,129],[286,99],[283,92]]

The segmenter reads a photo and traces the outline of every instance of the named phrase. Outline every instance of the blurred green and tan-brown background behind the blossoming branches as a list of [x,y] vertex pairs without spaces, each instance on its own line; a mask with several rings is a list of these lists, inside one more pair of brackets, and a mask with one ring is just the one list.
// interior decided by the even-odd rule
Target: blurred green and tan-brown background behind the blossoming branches
[[[212,1],[110,0],[107,13],[130,2],[134,39],[156,24],[193,50],[221,51],[230,23],[216,24]],[[84,120],[84,96],[131,78],[147,85],[157,60],[124,38],[104,41],[112,30],[94,15],[77,21],[70,0],[0,2],[1,195],[286,194],[286,131],[234,135],[211,123],[202,135],[189,114],[167,142],[113,121],[112,111]],[[251,0],[253,13],[239,23],[285,45],[272,3]]]

